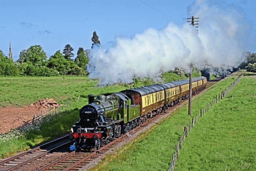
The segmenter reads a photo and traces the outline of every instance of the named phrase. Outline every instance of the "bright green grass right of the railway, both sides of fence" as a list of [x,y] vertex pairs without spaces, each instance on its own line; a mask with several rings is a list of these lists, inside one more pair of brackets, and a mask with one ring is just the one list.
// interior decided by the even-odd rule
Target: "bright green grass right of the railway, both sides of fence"
[[[237,77],[231,75],[195,97],[192,117]],[[234,93],[234,98],[225,97],[198,118],[199,123],[183,143],[175,170],[255,170],[255,84],[255,77],[243,77],[230,92]],[[178,137],[191,122],[187,108],[185,105],[178,109],[161,124],[106,156],[91,170],[169,169]]]

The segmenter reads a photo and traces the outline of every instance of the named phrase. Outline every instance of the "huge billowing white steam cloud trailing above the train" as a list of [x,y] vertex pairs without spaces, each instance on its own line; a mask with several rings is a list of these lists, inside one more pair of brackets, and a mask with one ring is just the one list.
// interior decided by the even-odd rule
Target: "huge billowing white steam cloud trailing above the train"
[[250,25],[233,5],[196,1],[189,15],[199,17],[199,32],[187,22],[166,28],[149,28],[131,38],[115,37],[109,49],[94,46],[87,66],[99,84],[132,82],[134,76],[157,79],[175,67],[189,71],[189,64],[203,68],[237,66],[244,60]]

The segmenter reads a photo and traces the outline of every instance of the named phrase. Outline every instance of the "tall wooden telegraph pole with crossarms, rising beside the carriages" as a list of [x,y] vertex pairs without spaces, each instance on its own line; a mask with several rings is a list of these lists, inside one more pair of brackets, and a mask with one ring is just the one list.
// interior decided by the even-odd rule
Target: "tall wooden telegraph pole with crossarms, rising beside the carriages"
[[[198,23],[195,22],[199,22],[198,20],[195,19],[199,19],[198,17],[194,17],[192,16],[191,18],[187,18],[189,20],[187,20],[187,22],[191,22],[191,25],[198,25]],[[191,20],[190,20],[191,19]],[[196,26],[198,28],[198,26]],[[198,37],[198,30],[197,30],[197,37]],[[191,116],[191,106],[192,106],[192,71],[193,71],[193,64],[190,63],[189,65],[190,67],[190,73],[189,73],[189,97],[188,97],[188,114]]]

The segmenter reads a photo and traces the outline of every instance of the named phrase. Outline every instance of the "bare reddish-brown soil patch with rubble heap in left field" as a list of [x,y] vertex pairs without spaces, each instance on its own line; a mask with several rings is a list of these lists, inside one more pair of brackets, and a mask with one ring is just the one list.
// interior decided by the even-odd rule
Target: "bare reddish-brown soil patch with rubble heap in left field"
[[59,106],[61,104],[57,104],[53,99],[46,98],[22,108],[0,108],[0,134],[28,124],[28,121],[33,119],[34,115],[41,113],[41,110],[44,111],[47,108],[54,110]]

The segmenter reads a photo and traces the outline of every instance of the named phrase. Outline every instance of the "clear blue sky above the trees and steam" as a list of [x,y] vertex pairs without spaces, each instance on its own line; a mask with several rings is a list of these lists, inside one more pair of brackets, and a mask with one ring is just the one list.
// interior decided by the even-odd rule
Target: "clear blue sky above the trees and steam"
[[[96,31],[101,45],[112,46],[115,37],[131,37],[148,28],[162,29],[172,22],[186,23],[190,0],[1,0],[0,49],[14,60],[20,51],[41,45],[47,57],[70,44],[76,57],[79,47],[89,49]],[[210,1],[215,3],[215,1]],[[256,1],[226,0],[244,12],[255,34]],[[236,17],[236,16],[233,16]],[[208,18],[213,20],[214,18]],[[200,16],[199,16],[200,29]],[[200,31],[200,30],[199,30]],[[253,35],[255,37],[255,35]],[[255,51],[255,49],[249,49]]]

